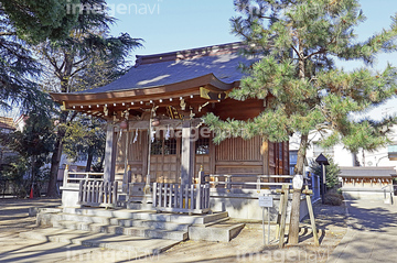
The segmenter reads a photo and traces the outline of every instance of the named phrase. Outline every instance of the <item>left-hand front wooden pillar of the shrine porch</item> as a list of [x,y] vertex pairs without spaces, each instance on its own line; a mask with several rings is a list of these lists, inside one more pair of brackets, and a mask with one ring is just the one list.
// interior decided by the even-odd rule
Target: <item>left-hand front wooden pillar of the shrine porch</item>
[[115,168],[116,168],[116,136],[115,128],[111,121],[107,123],[106,130],[106,146],[105,146],[105,167],[104,167],[104,180],[115,180]]

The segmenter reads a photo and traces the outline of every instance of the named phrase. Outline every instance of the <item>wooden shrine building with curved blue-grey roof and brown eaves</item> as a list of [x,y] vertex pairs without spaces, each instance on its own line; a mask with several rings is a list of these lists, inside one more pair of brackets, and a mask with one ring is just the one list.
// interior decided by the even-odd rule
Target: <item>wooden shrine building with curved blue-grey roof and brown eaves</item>
[[[271,188],[291,178],[288,142],[230,136],[215,145],[202,120],[208,112],[222,120],[248,120],[265,109],[264,100],[228,97],[244,76],[239,64],[257,59],[240,56],[240,45],[137,56],[136,65],[107,86],[51,96],[64,110],[107,120],[103,178],[119,182],[125,194],[148,194],[154,183],[203,183],[200,171],[212,188],[228,189],[225,193]],[[64,188],[71,182],[66,178]]]

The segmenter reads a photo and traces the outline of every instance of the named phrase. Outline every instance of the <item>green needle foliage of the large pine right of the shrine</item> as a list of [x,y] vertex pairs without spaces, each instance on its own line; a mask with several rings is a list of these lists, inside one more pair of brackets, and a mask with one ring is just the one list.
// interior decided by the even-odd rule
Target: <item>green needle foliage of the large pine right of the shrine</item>
[[[397,17],[390,29],[358,42],[354,30],[365,17],[356,0],[235,0],[235,7],[239,17],[230,20],[232,31],[245,43],[242,53],[258,59],[242,66],[247,77],[229,96],[260,99],[266,108],[248,121],[207,114],[215,141],[260,134],[279,142],[300,134],[299,173],[312,130],[323,135],[324,146],[342,142],[352,152],[387,144],[396,118],[375,123],[351,116],[396,96],[396,68],[373,72],[369,66],[379,52],[396,51]],[[335,59],[360,59],[367,67],[345,72]]]

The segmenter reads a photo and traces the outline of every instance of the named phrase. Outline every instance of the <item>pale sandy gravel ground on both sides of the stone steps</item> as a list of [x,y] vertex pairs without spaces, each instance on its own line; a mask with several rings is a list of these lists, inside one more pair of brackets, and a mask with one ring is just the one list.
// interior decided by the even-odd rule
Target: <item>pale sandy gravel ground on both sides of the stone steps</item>
[[[58,204],[60,200],[56,199],[0,199],[0,237],[8,237],[15,242],[17,240],[20,241],[19,232],[35,228],[35,218],[29,217],[30,207],[56,206]],[[158,256],[151,257],[150,261],[326,262],[328,256],[346,232],[345,207],[316,204],[313,209],[316,226],[320,230],[320,246],[313,245],[313,235],[308,219],[301,223],[299,245],[286,245],[282,250],[278,249],[275,238],[270,239],[272,244],[262,244],[261,222],[247,222],[238,237],[228,243],[185,241]],[[270,237],[275,237],[275,226],[272,226]],[[0,240],[0,245],[1,242]],[[56,260],[53,262],[56,262]],[[138,260],[137,262],[148,262],[148,259]]]

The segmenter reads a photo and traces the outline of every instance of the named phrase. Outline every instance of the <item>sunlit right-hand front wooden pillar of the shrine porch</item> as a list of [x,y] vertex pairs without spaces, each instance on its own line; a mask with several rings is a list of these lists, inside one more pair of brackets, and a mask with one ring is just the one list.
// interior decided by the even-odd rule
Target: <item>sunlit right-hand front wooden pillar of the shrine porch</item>
[[182,124],[182,155],[181,155],[181,184],[191,185],[194,173],[194,147],[191,140],[191,122],[184,121]]

